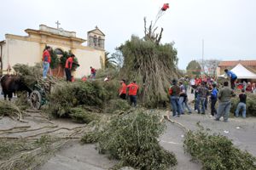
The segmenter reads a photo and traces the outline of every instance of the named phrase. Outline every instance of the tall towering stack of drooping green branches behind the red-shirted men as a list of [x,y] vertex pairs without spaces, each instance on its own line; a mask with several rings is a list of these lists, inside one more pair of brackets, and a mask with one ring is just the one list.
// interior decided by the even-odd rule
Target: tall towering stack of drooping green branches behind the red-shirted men
[[143,105],[155,107],[167,100],[172,78],[177,78],[177,50],[173,43],[158,44],[132,36],[119,47],[124,55],[121,75],[137,80]]

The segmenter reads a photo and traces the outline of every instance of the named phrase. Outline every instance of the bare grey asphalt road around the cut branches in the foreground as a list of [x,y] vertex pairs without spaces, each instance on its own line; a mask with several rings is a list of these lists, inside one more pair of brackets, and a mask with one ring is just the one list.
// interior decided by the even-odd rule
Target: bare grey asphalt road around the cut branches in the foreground
[[[212,117],[199,115],[184,115],[172,118],[176,122],[182,123],[191,130],[196,130],[196,123],[200,122],[212,133],[220,133],[233,140],[242,150],[248,150],[256,156],[256,118],[242,119],[230,118],[230,122],[216,122]],[[201,164],[191,161],[191,157],[183,150],[183,129],[176,124],[166,121],[166,132],[160,137],[160,144],[172,151],[177,157],[177,170],[199,170]],[[64,147],[56,153],[48,162],[40,167],[40,170],[60,169],[60,170],[101,170],[112,167],[115,161],[108,160],[107,156],[99,155],[95,150],[95,144],[81,145],[79,142]],[[172,169],[172,168],[171,168]]]

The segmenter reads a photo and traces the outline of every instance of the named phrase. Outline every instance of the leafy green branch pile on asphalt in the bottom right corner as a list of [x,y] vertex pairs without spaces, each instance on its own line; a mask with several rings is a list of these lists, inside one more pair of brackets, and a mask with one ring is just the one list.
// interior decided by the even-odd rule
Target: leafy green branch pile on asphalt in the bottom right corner
[[247,151],[236,148],[232,141],[222,135],[210,135],[201,128],[189,131],[184,140],[185,150],[201,161],[207,170],[253,170],[256,158]]

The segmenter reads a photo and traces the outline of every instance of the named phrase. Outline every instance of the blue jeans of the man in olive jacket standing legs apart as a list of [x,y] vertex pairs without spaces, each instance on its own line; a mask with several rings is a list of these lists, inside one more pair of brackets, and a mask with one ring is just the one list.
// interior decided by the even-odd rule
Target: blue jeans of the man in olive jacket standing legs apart
[[218,111],[217,111],[217,116],[216,120],[219,120],[221,116],[224,117],[224,122],[228,121],[229,115],[230,115],[230,107],[231,107],[231,102],[230,101],[225,101],[225,102],[219,102],[218,103]]

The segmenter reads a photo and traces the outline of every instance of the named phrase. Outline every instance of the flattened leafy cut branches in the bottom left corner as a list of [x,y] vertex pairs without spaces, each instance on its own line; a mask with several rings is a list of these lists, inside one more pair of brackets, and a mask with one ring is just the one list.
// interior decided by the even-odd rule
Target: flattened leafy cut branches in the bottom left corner
[[39,139],[0,139],[0,169],[35,169],[53,155],[58,140],[44,135]]

